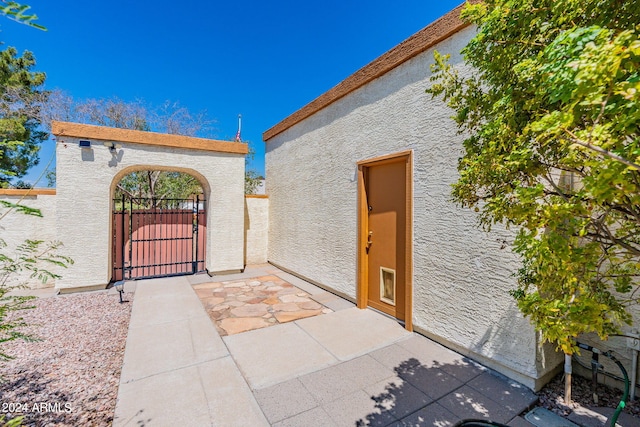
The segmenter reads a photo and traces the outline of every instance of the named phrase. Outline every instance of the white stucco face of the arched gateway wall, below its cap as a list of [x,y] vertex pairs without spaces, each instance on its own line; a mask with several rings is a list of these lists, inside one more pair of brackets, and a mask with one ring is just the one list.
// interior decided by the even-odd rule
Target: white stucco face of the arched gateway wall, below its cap
[[244,267],[244,155],[119,143],[112,156],[102,141],[90,149],[78,138],[58,137],[57,238],[75,264],[56,287],[103,286],[111,279],[112,197],[126,174],[140,169],[187,172],[207,199],[206,268]]

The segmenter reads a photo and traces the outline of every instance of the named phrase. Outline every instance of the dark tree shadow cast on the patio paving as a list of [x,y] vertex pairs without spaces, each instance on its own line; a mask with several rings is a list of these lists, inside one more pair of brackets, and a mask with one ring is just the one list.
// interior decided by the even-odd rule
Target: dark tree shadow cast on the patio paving
[[537,399],[524,386],[489,373],[468,359],[434,361],[425,366],[410,358],[394,372],[398,381],[390,381],[383,392],[371,396],[375,410],[356,421],[356,426],[447,427],[470,419],[502,426]]

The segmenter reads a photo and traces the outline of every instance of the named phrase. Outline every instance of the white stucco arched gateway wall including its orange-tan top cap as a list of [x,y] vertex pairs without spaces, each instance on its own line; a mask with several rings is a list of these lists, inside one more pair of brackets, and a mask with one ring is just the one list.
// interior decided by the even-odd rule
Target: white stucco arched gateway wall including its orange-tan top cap
[[[113,249],[118,246],[117,242],[114,244],[118,227],[123,232],[124,224],[113,216],[118,208],[113,198],[120,179],[138,170],[186,172],[202,186],[200,205],[206,212],[206,228],[198,227],[204,236],[196,236],[192,243],[206,247],[192,254],[195,259],[189,262],[195,261],[196,265],[190,264],[188,269],[175,270],[176,273],[190,273],[193,268],[226,272],[244,267],[246,144],[67,122],[53,122],[52,133],[56,136],[57,156],[57,238],[64,244],[65,255],[74,260],[57,288],[62,291],[103,288],[109,281],[122,277],[123,270],[119,270],[118,276],[118,269],[114,268],[122,253]],[[185,207],[179,204],[169,208],[178,212]],[[191,205],[190,209],[200,212],[198,206]],[[170,214],[165,218],[169,222],[185,222]],[[203,215],[197,215],[198,220],[202,218]],[[192,221],[190,216],[189,227],[183,224],[176,230],[189,229]],[[185,246],[180,251],[188,249]],[[206,256],[199,259],[198,253]],[[124,271],[127,267],[131,265],[124,266]],[[140,277],[143,276],[141,273]]]

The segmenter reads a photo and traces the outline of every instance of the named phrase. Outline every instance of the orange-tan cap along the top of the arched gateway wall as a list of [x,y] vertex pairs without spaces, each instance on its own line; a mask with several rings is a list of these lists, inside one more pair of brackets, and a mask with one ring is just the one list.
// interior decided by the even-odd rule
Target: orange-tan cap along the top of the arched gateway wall
[[218,141],[192,136],[170,135],[140,130],[110,128],[81,123],[51,122],[51,133],[57,137],[118,141],[159,147],[186,148],[190,150],[213,151],[218,153],[247,154],[249,146],[242,142]]

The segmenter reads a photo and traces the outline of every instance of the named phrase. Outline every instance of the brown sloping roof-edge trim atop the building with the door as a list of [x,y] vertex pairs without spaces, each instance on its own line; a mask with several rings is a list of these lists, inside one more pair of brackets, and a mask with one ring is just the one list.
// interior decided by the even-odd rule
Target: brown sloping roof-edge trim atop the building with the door
[[[468,3],[480,3],[480,0],[470,0]],[[427,49],[447,39],[452,34],[468,27],[470,24],[460,18],[460,12],[465,4],[453,9],[437,21],[429,24],[407,40],[400,43],[373,62],[365,65],[351,76],[347,77],[328,92],[320,95],[309,104],[302,107],[280,123],[268,129],[262,134],[262,139],[268,142],[271,138],[284,132],[302,120],[317,113],[340,98],[348,95],[356,89],[388,73],[397,66],[421,54]]]

